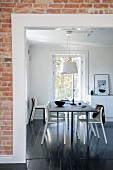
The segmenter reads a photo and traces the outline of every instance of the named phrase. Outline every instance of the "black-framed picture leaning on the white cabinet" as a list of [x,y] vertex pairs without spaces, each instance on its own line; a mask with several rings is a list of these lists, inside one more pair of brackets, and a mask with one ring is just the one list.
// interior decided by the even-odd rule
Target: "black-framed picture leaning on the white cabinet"
[[94,90],[97,95],[109,94],[109,75],[95,74],[94,75]]

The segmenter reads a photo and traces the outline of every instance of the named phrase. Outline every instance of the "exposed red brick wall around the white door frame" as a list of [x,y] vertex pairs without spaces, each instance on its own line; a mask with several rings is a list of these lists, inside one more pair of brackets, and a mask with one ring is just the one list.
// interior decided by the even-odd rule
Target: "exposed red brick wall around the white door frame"
[[11,13],[113,14],[113,0],[0,0],[0,154],[13,153]]

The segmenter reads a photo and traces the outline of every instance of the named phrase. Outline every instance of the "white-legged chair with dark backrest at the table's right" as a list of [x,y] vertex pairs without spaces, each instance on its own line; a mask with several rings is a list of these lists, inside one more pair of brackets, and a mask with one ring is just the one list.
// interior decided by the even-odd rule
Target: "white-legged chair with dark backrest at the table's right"
[[[103,135],[104,135],[104,139],[105,139],[105,143],[107,144],[107,138],[106,138],[106,134],[105,134],[105,130],[104,130],[104,126],[103,126],[103,117],[104,117],[104,106],[103,105],[97,105],[96,106],[96,110],[98,111],[98,113],[93,113],[92,114],[92,118],[89,118],[88,120],[88,124],[89,124],[89,127],[91,127],[92,129],[93,128],[93,124],[95,125],[95,129],[96,129],[96,132],[97,132],[97,137],[100,138],[99,136],[99,132],[98,132],[98,127],[97,127],[97,124],[100,124],[101,127],[102,127],[102,131],[103,131]],[[83,122],[84,123],[84,144],[85,144],[85,137],[86,137],[86,118],[79,118],[79,121]],[[94,133],[95,134],[95,133]],[[95,134],[96,136],[96,134]]]

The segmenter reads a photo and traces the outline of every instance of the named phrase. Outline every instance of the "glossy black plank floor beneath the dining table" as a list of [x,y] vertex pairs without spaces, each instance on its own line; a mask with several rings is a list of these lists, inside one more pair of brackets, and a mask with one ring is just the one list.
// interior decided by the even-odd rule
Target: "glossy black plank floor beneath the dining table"
[[99,126],[100,139],[91,134],[88,152],[86,145],[83,144],[82,128],[80,140],[74,132],[73,145],[70,142],[71,128],[66,128],[66,145],[63,144],[62,125],[59,148],[56,145],[56,125],[49,126],[44,144],[41,145],[44,124],[42,120],[34,120],[27,125],[26,166],[0,165],[0,170],[113,170],[113,123],[105,123],[104,126],[108,144],[105,144]]

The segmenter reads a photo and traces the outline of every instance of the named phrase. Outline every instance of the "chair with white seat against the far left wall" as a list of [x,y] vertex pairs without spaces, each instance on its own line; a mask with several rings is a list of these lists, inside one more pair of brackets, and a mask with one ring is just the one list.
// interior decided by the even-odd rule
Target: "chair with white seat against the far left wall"
[[31,100],[32,100],[32,109],[31,109],[29,122],[33,121],[36,109],[42,109],[43,110],[43,119],[44,119],[44,122],[45,122],[45,107],[46,107],[46,105],[38,105],[36,97],[33,97]]

